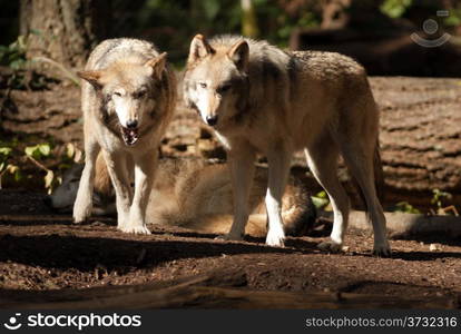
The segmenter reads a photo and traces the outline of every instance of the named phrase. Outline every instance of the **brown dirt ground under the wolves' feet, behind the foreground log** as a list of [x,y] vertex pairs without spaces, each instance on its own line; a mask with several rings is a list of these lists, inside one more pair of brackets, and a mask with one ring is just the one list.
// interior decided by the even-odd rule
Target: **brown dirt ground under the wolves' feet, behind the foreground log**
[[0,191],[0,298],[11,289],[136,285],[234,269],[245,275],[241,289],[442,297],[461,307],[461,245],[443,236],[392,239],[391,258],[372,256],[372,236],[352,229],[343,253],[322,253],[316,245],[327,227],[288,238],[285,248],[173,227],[136,236],[118,232],[110,218],[73,225],[45,197]]

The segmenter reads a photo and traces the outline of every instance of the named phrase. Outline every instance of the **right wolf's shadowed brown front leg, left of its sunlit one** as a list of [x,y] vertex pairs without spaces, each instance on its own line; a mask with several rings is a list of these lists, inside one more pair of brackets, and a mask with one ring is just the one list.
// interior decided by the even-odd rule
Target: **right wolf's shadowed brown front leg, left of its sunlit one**
[[255,150],[251,147],[238,147],[229,151],[230,181],[234,198],[234,222],[227,235],[228,240],[242,240],[248,220],[248,195],[255,171]]

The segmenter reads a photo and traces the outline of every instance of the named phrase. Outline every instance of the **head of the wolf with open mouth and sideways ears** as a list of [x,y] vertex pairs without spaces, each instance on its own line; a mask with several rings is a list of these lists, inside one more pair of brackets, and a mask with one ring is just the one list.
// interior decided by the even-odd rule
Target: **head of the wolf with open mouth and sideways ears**
[[163,79],[166,53],[147,62],[125,59],[101,70],[86,70],[78,76],[97,90],[108,115],[116,114],[126,145],[139,139],[149,114],[156,107],[156,89]]

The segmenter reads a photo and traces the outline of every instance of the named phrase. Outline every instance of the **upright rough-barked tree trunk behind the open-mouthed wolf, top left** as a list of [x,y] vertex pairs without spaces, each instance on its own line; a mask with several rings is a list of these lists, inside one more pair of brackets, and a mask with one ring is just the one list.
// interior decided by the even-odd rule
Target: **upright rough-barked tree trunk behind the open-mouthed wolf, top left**
[[29,59],[46,57],[67,68],[81,68],[107,37],[110,3],[106,0],[21,0],[20,35]]

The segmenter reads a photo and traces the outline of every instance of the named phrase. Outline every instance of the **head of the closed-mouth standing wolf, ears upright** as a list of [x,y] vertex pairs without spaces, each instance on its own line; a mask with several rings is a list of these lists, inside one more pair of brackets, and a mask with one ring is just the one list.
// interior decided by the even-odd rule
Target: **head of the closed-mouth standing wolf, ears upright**
[[243,39],[212,45],[197,35],[192,43],[184,78],[186,105],[216,129],[224,128],[246,102],[249,48]]

